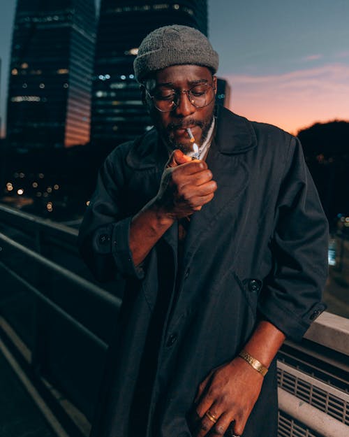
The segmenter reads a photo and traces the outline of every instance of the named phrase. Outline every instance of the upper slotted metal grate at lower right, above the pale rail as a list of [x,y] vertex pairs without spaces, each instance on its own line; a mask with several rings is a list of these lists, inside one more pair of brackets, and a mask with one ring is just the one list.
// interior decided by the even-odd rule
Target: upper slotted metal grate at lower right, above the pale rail
[[278,365],[278,384],[339,422],[349,425],[349,395],[283,363]]

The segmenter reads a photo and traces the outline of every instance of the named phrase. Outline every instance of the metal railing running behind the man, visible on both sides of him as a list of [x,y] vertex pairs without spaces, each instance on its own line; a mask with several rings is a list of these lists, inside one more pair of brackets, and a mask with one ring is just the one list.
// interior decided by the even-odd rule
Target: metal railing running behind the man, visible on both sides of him
[[[52,245],[78,257],[74,229],[3,206],[0,225],[31,238],[29,248],[0,233],[0,313],[30,350],[36,374],[91,420],[121,300],[44,255]],[[285,343],[279,437],[349,435],[348,357],[349,320],[329,313],[302,343]]]

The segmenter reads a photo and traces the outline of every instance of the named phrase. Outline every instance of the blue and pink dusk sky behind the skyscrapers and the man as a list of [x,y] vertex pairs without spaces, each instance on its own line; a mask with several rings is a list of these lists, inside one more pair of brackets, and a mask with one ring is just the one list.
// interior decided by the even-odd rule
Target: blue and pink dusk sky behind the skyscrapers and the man
[[[314,122],[349,121],[349,0],[208,3],[232,110],[293,134]],[[0,12],[4,125],[15,0],[1,0]]]

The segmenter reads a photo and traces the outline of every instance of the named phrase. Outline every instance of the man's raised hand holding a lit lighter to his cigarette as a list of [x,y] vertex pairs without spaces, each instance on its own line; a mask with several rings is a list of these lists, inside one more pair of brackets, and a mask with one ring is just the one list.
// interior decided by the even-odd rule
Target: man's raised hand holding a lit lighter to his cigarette
[[156,206],[172,220],[193,214],[213,199],[217,184],[207,164],[174,150],[161,178]]

